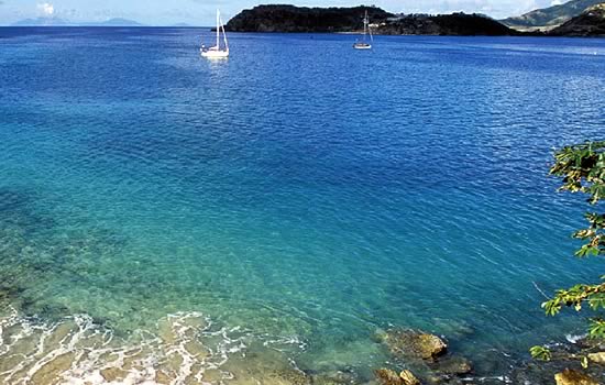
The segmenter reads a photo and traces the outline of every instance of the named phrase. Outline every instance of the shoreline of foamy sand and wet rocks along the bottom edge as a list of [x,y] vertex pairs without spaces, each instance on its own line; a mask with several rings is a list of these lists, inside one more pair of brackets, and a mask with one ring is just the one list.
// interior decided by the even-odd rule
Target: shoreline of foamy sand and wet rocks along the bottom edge
[[[47,322],[21,317],[12,309],[0,317],[0,337],[10,341],[0,351],[0,381],[7,384],[244,385],[255,381],[266,385],[393,385],[397,383],[393,383],[393,376],[402,371],[428,384],[543,383],[564,369],[579,370],[580,363],[569,358],[586,349],[581,348],[585,340],[566,341],[554,345],[557,359],[549,363],[508,359],[503,366],[501,361],[506,354],[492,352],[469,361],[450,348],[452,341],[447,336],[396,327],[367,336],[366,343],[374,354],[384,354],[382,363],[351,366],[337,360],[314,367],[299,360],[307,346],[296,338],[262,338],[245,327],[216,324],[195,311],[167,315],[157,320],[156,329],[125,336],[85,315]],[[16,356],[20,359],[14,361]],[[475,371],[475,365],[494,364],[502,369]],[[602,376],[598,365],[592,365],[588,373]]]

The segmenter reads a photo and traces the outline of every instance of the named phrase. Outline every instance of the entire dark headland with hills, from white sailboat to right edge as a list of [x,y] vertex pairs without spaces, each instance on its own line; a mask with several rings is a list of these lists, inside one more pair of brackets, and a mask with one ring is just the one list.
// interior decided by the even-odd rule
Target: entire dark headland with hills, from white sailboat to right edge
[[[484,14],[457,12],[451,14],[395,14],[377,7],[309,8],[284,4],[257,6],[243,10],[229,20],[229,32],[280,32],[280,33],[359,33],[363,30],[363,16],[367,12],[370,26],[375,34],[383,35],[451,35],[451,36],[603,36],[605,3],[579,8],[586,0],[572,0],[550,15],[566,20],[561,25],[549,24],[549,29],[515,29]],[[593,3],[592,0],[591,3]],[[573,6],[573,7],[572,7]],[[578,10],[578,13],[572,10]],[[561,19],[562,10],[566,18]],[[540,10],[532,15],[546,14]],[[529,20],[529,16],[519,20]],[[507,21],[513,25],[510,20]],[[539,21],[544,22],[543,20]]]

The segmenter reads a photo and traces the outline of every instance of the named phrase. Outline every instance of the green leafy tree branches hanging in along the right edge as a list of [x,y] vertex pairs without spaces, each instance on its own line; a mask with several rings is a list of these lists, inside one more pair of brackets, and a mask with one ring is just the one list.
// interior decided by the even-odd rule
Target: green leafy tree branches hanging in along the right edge
[[[587,195],[591,207],[598,207],[605,199],[605,141],[586,142],[566,146],[554,154],[554,164],[550,175],[562,177],[559,190],[581,193]],[[578,257],[605,255],[605,213],[590,211],[584,215],[588,222],[587,228],[578,230],[573,238],[582,240],[582,246],[575,252]],[[578,284],[568,289],[559,289],[549,300],[542,304],[548,316],[558,315],[563,307],[582,311],[588,308],[593,317],[590,318],[588,337],[605,338],[605,275],[601,276],[600,284]],[[540,360],[550,360],[551,353],[547,348],[534,346],[531,355]],[[582,359],[587,365],[587,360]]]

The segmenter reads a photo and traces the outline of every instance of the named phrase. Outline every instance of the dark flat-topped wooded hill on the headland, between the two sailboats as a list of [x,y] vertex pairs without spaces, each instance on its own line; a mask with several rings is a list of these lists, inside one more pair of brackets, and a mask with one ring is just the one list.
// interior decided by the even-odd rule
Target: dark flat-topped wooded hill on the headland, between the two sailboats
[[229,20],[227,31],[234,32],[350,32],[363,29],[367,11],[372,23],[395,16],[376,7],[307,8],[257,6]]

